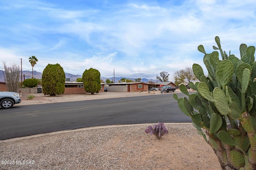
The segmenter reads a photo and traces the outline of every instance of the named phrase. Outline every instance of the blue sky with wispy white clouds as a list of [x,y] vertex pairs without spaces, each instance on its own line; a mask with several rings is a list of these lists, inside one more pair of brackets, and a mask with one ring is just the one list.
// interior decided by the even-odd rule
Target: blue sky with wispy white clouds
[[[59,63],[65,72],[96,68],[101,76],[153,78],[203,64],[197,50],[222,49],[240,58],[239,46],[256,45],[254,0],[1,0],[0,69],[34,70]],[[205,74],[206,71],[205,71]]]

